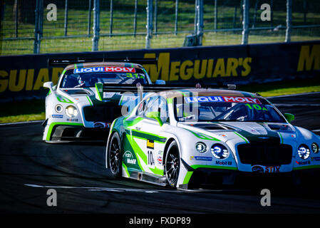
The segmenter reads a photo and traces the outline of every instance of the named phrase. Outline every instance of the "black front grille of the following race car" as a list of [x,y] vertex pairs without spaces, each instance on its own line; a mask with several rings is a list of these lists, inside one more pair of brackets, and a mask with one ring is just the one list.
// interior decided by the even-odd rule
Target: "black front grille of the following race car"
[[121,115],[120,106],[87,106],[83,115],[86,121],[111,123]]

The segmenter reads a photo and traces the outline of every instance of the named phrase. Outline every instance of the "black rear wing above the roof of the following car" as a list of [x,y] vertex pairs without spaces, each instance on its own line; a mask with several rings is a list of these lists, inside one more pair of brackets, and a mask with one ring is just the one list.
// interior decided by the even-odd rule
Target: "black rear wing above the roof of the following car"
[[140,65],[143,64],[157,64],[158,58],[74,58],[74,59],[57,59],[57,58],[48,58],[48,68],[50,66],[63,66],[66,67],[70,64],[77,63],[94,63],[94,62],[118,62],[118,63],[137,63]]

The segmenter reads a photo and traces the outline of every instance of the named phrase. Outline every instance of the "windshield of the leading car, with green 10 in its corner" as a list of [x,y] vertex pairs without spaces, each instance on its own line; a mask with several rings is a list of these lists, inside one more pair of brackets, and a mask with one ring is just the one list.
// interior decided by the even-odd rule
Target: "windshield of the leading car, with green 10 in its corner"
[[286,123],[264,98],[197,96],[175,98],[175,118],[186,121]]

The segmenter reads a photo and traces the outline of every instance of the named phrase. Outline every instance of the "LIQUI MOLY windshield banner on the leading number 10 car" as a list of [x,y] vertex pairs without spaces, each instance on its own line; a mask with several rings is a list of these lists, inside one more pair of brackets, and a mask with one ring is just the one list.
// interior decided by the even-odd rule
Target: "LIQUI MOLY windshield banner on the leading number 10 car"
[[194,96],[186,97],[186,103],[210,103],[210,102],[232,102],[232,103],[252,103],[261,104],[258,98],[247,98],[237,96]]

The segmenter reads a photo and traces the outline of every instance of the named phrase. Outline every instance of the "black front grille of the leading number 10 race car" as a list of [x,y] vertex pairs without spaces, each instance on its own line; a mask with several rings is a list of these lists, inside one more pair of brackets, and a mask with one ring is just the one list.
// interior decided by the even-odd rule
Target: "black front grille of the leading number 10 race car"
[[240,144],[237,148],[243,164],[277,166],[291,163],[291,145],[261,142]]

